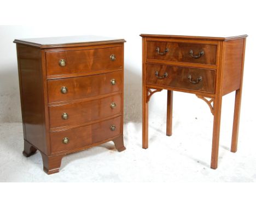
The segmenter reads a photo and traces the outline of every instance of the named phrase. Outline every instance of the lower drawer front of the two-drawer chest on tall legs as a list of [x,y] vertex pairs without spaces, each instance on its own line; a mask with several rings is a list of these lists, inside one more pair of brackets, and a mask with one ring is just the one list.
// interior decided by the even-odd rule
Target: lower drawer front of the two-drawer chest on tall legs
[[215,70],[172,65],[146,65],[146,83],[214,93]]

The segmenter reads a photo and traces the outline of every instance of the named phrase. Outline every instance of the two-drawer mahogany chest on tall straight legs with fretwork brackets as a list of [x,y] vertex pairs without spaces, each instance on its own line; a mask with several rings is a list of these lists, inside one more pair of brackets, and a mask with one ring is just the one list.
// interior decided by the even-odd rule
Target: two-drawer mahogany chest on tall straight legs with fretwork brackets
[[173,91],[193,93],[214,116],[211,168],[218,166],[222,96],[236,91],[231,151],[237,150],[238,126],[247,35],[229,38],[142,34],[143,129],[148,148],[148,102],[167,90],[166,134],[172,134]]

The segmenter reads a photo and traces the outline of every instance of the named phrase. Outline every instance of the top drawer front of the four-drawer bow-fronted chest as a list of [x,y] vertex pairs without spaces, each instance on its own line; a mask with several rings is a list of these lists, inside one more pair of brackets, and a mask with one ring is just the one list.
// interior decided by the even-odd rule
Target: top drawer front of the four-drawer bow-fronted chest
[[121,46],[79,51],[46,52],[48,76],[117,69],[121,68],[122,64]]

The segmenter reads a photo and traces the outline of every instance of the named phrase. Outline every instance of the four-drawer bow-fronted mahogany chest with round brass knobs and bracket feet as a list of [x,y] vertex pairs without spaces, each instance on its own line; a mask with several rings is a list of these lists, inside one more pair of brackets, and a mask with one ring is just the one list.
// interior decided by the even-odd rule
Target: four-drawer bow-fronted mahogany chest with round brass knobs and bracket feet
[[124,42],[100,36],[15,40],[24,151],[44,171],[62,157],[112,140],[123,142]]

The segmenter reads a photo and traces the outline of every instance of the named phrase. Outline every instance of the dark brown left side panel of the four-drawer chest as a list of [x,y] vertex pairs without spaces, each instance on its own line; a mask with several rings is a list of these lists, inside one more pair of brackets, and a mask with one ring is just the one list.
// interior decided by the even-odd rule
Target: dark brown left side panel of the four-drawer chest
[[46,152],[41,50],[22,44],[17,48],[24,139]]

